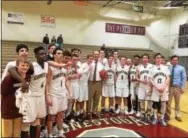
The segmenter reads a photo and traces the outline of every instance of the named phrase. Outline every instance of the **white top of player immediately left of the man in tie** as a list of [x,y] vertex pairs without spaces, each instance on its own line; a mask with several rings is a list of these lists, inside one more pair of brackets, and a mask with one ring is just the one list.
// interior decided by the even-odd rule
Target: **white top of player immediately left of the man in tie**
[[89,65],[86,62],[81,65],[80,69],[78,69],[78,73],[81,74],[81,77],[79,79],[79,84],[88,85],[90,71],[89,71]]

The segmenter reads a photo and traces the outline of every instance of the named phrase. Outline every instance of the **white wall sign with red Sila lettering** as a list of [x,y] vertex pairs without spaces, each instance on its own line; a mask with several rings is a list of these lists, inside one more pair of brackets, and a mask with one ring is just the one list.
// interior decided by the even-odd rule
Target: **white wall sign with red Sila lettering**
[[41,27],[55,28],[55,17],[41,15]]

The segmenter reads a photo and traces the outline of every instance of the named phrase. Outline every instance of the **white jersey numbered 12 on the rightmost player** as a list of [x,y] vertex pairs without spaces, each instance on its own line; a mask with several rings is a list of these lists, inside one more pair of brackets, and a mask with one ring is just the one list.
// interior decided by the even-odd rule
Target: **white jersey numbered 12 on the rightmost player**
[[168,67],[165,65],[160,65],[160,66],[154,65],[152,70],[150,71],[150,78],[154,81],[154,83],[158,87],[165,84],[167,80],[167,76],[169,75],[170,75],[170,71],[168,70]]

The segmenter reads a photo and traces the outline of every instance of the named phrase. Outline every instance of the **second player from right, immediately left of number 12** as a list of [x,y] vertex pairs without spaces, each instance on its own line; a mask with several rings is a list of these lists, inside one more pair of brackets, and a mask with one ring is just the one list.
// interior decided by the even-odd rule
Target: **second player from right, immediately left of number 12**
[[[149,82],[149,72],[152,68],[152,64],[148,63],[149,55],[142,55],[142,64],[137,68],[136,78],[139,82],[138,87],[138,100],[141,106],[141,119],[150,121],[151,110],[152,110],[152,101],[150,91],[150,82]],[[147,101],[147,116],[145,115],[145,101]],[[137,116],[140,116],[138,112]]]

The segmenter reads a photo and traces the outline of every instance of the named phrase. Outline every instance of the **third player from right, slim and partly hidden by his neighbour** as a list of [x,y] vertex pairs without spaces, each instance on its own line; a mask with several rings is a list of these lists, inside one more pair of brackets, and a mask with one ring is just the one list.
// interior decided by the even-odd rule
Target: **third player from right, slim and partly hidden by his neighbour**
[[131,112],[134,114],[138,111],[138,82],[136,80],[136,70],[140,63],[140,56],[134,55],[133,65],[130,66],[129,75],[130,75],[130,94],[131,94]]

